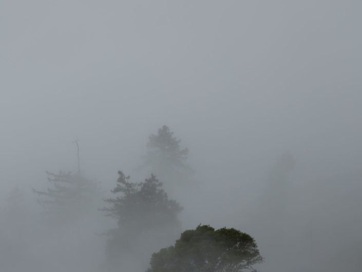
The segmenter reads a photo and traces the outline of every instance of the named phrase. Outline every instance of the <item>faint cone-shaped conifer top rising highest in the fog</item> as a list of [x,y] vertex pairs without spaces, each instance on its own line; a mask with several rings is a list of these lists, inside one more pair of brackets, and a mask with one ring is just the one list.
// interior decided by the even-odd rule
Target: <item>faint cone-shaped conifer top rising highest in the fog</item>
[[167,182],[185,182],[194,170],[186,164],[188,149],[182,149],[168,126],[163,125],[158,134],[148,136],[147,154],[138,169],[149,168]]

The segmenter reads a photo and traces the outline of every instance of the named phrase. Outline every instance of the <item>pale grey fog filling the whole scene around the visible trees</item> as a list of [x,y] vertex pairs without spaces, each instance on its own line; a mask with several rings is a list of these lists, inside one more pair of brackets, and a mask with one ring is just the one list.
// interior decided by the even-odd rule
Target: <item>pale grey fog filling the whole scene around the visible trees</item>
[[[0,1],[0,270],[143,272],[202,224],[252,235],[260,272],[360,271],[361,10]],[[165,167],[139,170],[163,125],[193,171],[154,174],[183,210],[171,228],[132,230],[110,265],[106,232],[120,223],[103,200],[118,171],[142,183]],[[46,171],[97,185],[73,219],[49,219]]]

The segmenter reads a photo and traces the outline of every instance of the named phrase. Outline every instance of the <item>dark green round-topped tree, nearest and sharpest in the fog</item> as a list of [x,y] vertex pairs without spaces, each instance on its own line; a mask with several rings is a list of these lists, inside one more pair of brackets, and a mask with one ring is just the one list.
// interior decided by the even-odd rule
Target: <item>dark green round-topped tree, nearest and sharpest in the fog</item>
[[234,228],[215,230],[199,225],[186,230],[174,246],[154,253],[147,272],[256,271],[263,258],[255,240]]

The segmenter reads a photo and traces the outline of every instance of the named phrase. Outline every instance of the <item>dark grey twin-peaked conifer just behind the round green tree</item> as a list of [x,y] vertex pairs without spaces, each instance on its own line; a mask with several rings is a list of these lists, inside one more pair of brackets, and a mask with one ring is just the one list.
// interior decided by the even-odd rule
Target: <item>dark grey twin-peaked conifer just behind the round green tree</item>
[[107,232],[106,256],[110,263],[119,263],[125,251],[142,251],[135,249],[138,244],[147,244],[140,237],[148,239],[161,230],[164,237],[167,231],[174,232],[179,228],[177,215],[182,210],[175,200],[168,199],[155,175],[142,183],[131,183],[129,176],[121,171],[118,174],[117,186],[111,190],[117,196],[106,199],[110,207],[101,209],[118,221],[118,228]]

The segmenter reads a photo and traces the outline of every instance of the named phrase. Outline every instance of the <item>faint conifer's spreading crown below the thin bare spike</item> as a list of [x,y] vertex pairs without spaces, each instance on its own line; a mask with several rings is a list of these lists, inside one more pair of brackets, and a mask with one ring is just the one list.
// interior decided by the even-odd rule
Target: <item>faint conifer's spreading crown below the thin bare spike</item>
[[58,221],[71,221],[81,216],[100,195],[98,184],[77,173],[59,171],[58,174],[46,171],[53,188],[46,191],[33,189],[45,212]]

